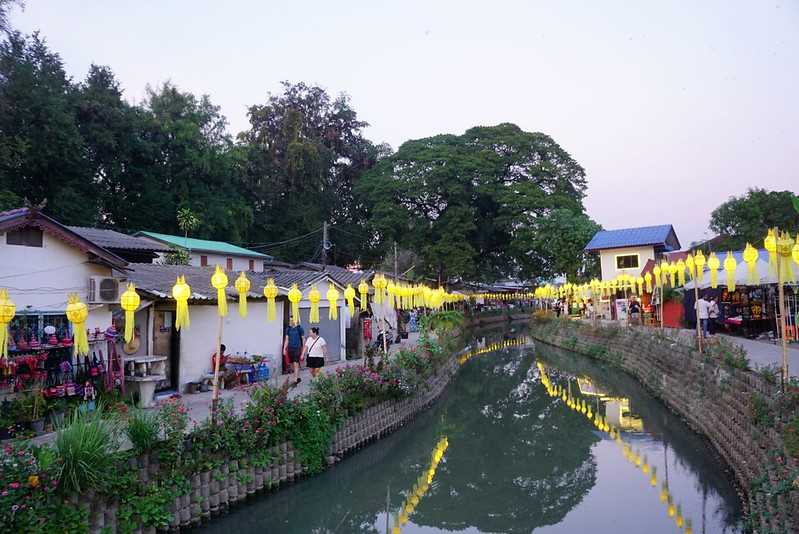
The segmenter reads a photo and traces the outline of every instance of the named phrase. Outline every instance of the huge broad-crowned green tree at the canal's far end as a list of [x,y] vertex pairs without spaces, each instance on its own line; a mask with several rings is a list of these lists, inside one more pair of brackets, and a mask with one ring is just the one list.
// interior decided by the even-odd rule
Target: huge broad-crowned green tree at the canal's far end
[[396,240],[443,281],[583,274],[582,248],[598,228],[585,188],[584,170],[551,137],[500,124],[408,141],[358,192],[377,250]]

